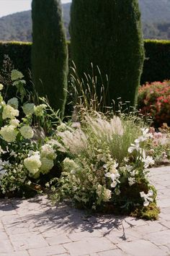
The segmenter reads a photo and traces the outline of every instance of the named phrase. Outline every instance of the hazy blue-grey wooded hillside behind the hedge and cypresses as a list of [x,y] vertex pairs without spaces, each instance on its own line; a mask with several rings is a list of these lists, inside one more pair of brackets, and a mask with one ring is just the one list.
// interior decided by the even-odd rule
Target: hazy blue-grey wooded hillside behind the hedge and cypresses
[[[139,0],[144,38],[170,39],[170,0]],[[63,4],[68,35],[71,4]],[[32,40],[31,12],[17,12],[0,18],[0,40]]]

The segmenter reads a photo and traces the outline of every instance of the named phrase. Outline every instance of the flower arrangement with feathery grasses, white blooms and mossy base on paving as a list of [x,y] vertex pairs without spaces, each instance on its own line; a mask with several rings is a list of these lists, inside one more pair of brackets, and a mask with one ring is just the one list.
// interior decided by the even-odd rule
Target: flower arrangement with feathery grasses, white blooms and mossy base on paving
[[[82,113],[81,113],[82,114]],[[144,145],[152,135],[132,120],[97,112],[84,114],[81,128],[63,124],[51,141],[68,153],[56,198],[70,198],[80,208],[156,219],[156,189],[148,181]]]

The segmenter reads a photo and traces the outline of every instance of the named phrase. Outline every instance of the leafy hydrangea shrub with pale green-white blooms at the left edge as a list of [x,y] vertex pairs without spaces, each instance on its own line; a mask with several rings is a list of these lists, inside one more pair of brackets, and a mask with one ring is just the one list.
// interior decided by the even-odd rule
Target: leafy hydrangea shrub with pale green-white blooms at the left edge
[[48,174],[56,158],[42,129],[48,120],[53,129],[53,110],[45,103],[35,106],[30,101],[21,72],[14,69],[9,75],[16,95],[4,101],[6,86],[0,84],[0,197],[15,192],[23,196],[25,189],[35,189],[37,178]]

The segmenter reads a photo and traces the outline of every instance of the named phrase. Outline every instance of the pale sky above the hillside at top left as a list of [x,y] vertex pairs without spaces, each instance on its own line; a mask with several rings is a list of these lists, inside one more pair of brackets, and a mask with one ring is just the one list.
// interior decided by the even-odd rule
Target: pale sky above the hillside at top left
[[[71,0],[61,0],[63,4]],[[31,9],[32,0],[0,0],[0,17]]]

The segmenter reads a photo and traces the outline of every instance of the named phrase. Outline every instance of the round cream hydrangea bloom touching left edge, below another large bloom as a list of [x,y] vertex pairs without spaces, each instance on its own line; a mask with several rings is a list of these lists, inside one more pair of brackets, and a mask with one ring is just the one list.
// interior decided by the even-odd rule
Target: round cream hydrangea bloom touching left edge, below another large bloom
[[17,137],[17,131],[13,125],[5,125],[1,127],[0,135],[6,142],[14,142]]

